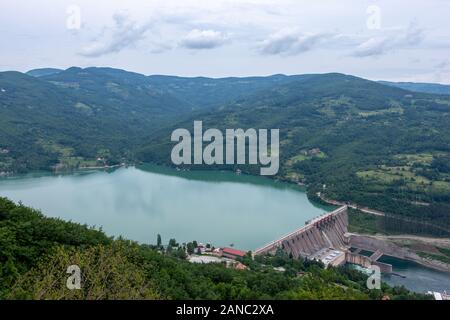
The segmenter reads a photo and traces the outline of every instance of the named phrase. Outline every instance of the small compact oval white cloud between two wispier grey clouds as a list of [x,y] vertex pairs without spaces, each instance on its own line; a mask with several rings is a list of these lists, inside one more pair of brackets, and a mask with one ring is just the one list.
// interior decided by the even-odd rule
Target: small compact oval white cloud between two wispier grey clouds
[[188,49],[213,49],[224,45],[229,40],[229,36],[215,30],[191,30],[180,45]]

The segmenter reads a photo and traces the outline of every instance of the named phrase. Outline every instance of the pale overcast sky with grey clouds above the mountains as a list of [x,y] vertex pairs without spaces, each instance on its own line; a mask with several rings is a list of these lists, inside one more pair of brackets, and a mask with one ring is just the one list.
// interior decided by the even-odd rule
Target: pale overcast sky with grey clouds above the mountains
[[449,0],[1,0],[0,70],[450,84]]

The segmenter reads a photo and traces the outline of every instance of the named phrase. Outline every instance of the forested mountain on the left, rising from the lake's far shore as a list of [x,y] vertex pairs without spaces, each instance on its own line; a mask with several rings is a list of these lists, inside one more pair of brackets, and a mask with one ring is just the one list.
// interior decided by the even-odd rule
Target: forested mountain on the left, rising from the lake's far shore
[[145,76],[121,74],[0,73],[0,172],[115,164],[131,158],[138,137],[186,111]]

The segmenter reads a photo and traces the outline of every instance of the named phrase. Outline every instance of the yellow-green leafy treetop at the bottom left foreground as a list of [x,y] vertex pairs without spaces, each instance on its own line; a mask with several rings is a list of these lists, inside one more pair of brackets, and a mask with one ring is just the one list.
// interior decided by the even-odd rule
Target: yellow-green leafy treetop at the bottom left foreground
[[[19,277],[7,299],[123,300],[159,299],[141,267],[127,257],[120,242],[86,250],[58,247],[30,272]],[[81,270],[81,289],[67,288],[68,266]]]

